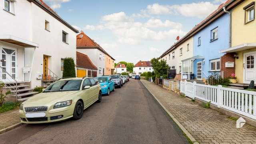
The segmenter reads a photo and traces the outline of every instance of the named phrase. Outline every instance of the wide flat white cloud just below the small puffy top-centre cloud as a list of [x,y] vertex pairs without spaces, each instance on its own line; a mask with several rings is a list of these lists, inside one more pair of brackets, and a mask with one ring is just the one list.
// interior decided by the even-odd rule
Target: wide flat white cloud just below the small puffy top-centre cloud
[[182,24],[178,22],[172,22],[170,20],[165,20],[165,22],[162,22],[162,20],[159,19],[149,19],[145,24],[145,27],[147,28],[163,28],[163,27],[173,27],[177,29],[182,28]]

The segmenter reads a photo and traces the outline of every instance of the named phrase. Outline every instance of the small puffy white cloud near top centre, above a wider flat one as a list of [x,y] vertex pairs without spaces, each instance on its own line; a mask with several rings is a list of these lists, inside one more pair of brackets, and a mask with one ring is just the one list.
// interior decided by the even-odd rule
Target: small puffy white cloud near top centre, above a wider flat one
[[170,14],[169,6],[159,4],[148,5],[147,10],[150,14]]

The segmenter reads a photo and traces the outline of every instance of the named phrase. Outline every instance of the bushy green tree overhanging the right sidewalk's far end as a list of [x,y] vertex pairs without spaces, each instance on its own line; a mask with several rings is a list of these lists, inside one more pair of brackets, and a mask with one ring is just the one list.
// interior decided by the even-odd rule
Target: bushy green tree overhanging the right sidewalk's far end
[[170,69],[170,66],[166,63],[166,60],[158,60],[157,58],[152,58],[150,60],[151,66],[154,69],[154,73],[156,75],[156,78],[159,78],[162,76],[163,78],[167,78],[168,70]]

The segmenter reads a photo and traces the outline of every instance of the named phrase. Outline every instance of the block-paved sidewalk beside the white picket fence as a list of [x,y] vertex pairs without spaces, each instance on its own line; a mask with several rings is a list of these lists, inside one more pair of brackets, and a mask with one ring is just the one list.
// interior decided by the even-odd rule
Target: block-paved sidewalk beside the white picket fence
[[165,90],[146,80],[141,82],[200,144],[256,144],[256,128],[236,121],[197,102]]

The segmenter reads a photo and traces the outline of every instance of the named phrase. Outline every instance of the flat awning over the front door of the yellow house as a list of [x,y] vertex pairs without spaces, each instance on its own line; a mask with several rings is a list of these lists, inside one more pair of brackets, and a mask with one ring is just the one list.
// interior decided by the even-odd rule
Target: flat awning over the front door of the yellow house
[[242,50],[248,50],[250,48],[256,48],[256,43],[244,43],[244,44],[241,44],[241,45],[238,45],[238,46],[234,46],[234,47],[231,47],[231,48],[220,50],[220,53],[239,52],[239,51],[242,51]]

